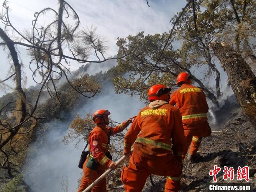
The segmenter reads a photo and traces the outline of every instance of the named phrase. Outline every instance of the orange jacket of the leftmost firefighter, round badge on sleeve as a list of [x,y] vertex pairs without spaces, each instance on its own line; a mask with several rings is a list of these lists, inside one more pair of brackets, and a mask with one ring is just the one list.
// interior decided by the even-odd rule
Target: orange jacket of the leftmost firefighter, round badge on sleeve
[[105,153],[108,152],[108,134],[109,130],[110,135],[115,135],[121,131],[123,131],[129,124],[124,121],[117,127],[105,127],[97,125],[90,133],[89,133],[89,148],[91,155],[95,158],[101,165],[98,167],[98,170],[108,169],[110,163],[112,161],[106,157]]

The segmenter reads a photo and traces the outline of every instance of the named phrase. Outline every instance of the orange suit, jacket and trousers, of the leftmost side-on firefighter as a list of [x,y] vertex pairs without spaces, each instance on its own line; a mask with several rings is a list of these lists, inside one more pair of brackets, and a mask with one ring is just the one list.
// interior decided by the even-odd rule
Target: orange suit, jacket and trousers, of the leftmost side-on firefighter
[[[88,162],[89,157],[87,156],[86,161],[83,164],[83,177],[80,184],[80,188],[78,192],[82,192],[86,189],[91,183],[93,183],[102,173],[104,173],[105,169],[109,168],[110,163],[112,161],[106,157],[106,153],[109,150],[108,146],[108,134],[109,129],[110,135],[115,135],[121,131],[123,131],[129,123],[124,121],[120,125],[115,128],[105,127],[98,124],[89,134],[89,150],[90,155],[99,162],[99,166],[97,170],[93,171],[86,167],[86,163]],[[92,189],[93,192],[104,192],[106,191],[106,179],[102,179],[97,185],[95,185]]]

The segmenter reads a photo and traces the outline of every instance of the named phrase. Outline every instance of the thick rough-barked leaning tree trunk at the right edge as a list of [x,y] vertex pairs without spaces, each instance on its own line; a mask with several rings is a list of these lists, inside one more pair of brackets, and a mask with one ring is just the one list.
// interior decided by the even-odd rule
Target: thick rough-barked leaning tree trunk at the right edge
[[212,43],[210,48],[227,72],[233,92],[248,120],[256,129],[256,77],[252,69],[229,45]]

